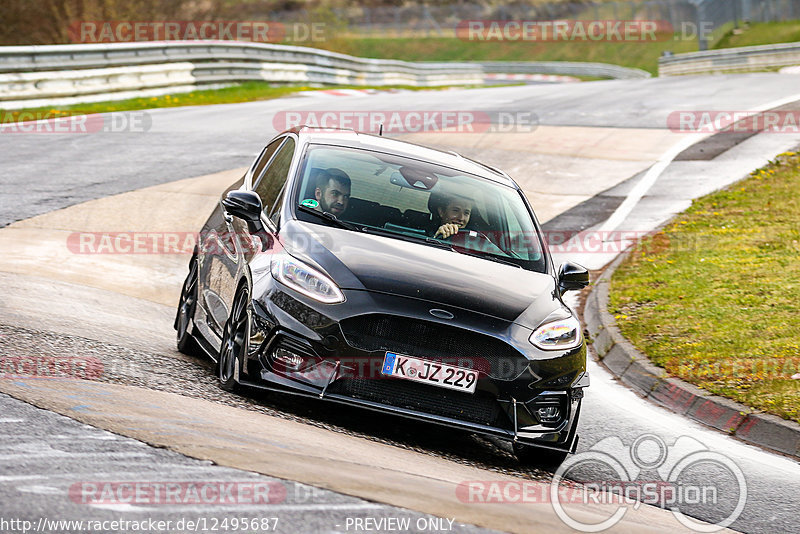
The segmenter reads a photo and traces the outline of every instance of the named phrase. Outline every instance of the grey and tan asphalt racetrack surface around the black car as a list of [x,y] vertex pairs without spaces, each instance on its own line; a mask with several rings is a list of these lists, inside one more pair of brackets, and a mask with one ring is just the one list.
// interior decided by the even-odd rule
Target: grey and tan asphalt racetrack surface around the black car
[[[3,518],[219,521],[241,515],[278,518],[283,532],[352,532],[366,525],[356,518],[407,518],[409,529],[421,532],[572,531],[574,525],[549,502],[485,504],[459,497],[465,481],[548,487],[551,473],[520,468],[502,442],[308,400],[223,392],[210,362],[174,348],[174,305],[188,258],[76,253],[67,246],[70,236],[197,231],[287,110],[480,112],[494,124],[483,132],[388,135],[456,150],[507,171],[545,230],[646,232],[692,198],[800,144],[798,134],[764,133],[737,139],[713,157],[693,156],[685,149],[702,136],[670,130],[671,113],[777,107],[800,100],[798,87],[796,76],[750,74],[318,92],[153,110],[142,131],[0,134],[2,353],[91,358],[102,368],[92,381],[0,378],[0,392],[7,394],[0,395]],[[501,117],[517,117],[520,128],[500,128]],[[534,127],[522,128],[522,122]],[[598,269],[615,254],[610,247],[569,257]],[[735,516],[728,526],[739,531],[796,530],[795,460],[656,407],[593,361],[590,373],[579,452],[602,446],[624,455],[642,444],[639,456],[632,456],[640,480],[660,480],[655,463],[647,461],[660,446],[678,456],[713,452],[717,463],[694,465],[682,482],[713,485],[716,500],[686,503],[683,513],[709,523]],[[720,468],[730,463],[739,478]],[[608,478],[607,468],[587,462],[569,476],[597,483]],[[92,487],[86,483],[165,480],[264,484],[280,501],[258,508],[81,502],[81,488]],[[572,503],[565,509],[574,521],[597,524],[617,506]],[[435,521],[440,518],[452,522]],[[655,506],[631,505],[614,531],[688,531],[690,519],[683,520]],[[264,525],[270,527],[259,523],[259,529]],[[388,522],[370,525],[390,530]]]

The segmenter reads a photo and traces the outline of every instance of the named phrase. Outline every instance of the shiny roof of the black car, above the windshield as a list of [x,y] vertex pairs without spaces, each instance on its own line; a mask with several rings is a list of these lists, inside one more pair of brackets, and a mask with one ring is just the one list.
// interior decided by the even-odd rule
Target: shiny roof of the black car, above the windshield
[[355,130],[316,128],[311,126],[298,126],[282,133],[294,133],[301,144],[325,144],[351,148],[362,148],[406,156],[412,159],[437,163],[444,167],[456,169],[469,174],[487,178],[494,182],[519,189],[519,186],[503,171],[467,158],[457,152],[445,152],[435,148],[390,139],[377,135],[356,132]]

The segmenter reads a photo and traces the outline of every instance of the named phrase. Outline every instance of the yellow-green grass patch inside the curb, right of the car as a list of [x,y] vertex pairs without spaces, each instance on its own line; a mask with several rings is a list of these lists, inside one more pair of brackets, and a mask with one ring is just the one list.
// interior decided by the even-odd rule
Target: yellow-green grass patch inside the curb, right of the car
[[658,366],[800,422],[800,156],[694,202],[614,274],[609,310]]

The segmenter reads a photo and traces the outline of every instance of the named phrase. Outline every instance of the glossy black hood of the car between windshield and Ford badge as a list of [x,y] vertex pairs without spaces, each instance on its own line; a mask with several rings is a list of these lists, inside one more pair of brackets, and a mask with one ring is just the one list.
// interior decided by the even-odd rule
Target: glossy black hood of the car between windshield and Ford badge
[[291,221],[286,252],[316,264],[344,290],[423,299],[537,327],[554,308],[552,276],[419,243]]

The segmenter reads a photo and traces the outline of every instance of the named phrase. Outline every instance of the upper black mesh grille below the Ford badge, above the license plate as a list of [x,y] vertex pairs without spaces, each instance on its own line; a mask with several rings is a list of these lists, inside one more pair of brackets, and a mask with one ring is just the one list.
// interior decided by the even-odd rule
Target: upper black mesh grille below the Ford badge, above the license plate
[[340,325],[347,343],[361,350],[443,361],[499,380],[514,380],[528,366],[525,356],[502,340],[453,326],[380,314],[351,317]]

